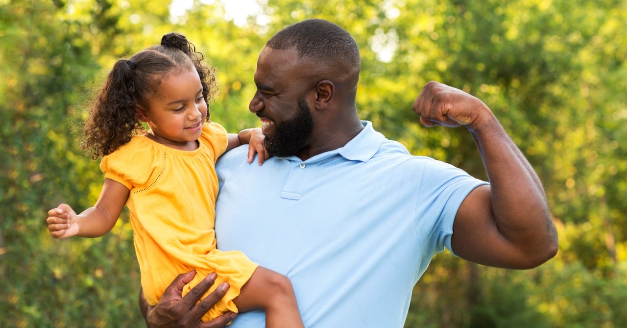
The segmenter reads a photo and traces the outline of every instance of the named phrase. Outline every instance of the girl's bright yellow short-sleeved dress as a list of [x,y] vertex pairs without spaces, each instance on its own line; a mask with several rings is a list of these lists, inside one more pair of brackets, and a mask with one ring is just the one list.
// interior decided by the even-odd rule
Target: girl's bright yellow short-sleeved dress
[[181,151],[135,136],[103,157],[100,169],[105,178],[130,190],[126,204],[149,304],[157,304],[179,273],[197,272],[184,288],[185,295],[206,275],[216,272],[218,278],[208,294],[221,282],[228,282],[231,288],[203,317],[211,320],[226,310],[237,312],[233,299],[257,264],[239,251],[216,250],[218,177],[214,164],[226,151],[228,135],[212,122],[204,124],[198,141],[195,151]]

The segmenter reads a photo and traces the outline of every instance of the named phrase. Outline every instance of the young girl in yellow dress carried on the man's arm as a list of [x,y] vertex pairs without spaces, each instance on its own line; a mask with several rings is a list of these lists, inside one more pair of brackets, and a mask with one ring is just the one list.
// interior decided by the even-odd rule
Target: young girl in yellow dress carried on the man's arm
[[203,320],[229,310],[263,309],[268,327],[303,327],[287,277],[258,267],[243,253],[216,250],[216,159],[250,142],[251,135],[255,145],[250,145],[248,161],[255,151],[260,163],[267,155],[258,129],[227,134],[209,121],[207,102],[216,83],[213,70],[201,60],[202,54],[184,36],[169,33],[160,46],[113,65],[93,102],[83,145],[93,159],[103,156],[100,198],[78,215],[66,204],[51,209],[48,229],[55,238],[102,236],[126,204],[150,305],[157,304],[179,273],[198,273],[184,289],[186,294],[216,272],[214,288],[221,282],[231,288]]

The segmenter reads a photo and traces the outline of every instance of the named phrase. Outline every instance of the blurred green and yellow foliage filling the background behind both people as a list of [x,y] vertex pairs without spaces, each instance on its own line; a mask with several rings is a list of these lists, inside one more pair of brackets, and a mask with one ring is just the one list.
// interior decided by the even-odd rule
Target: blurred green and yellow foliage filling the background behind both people
[[0,0],[0,327],[144,326],[128,215],[96,239],[53,240],[45,225],[100,192],[76,127],[113,61],[186,34],[219,68],[212,119],[237,131],[258,124],[247,108],[265,41],[314,17],[356,38],[361,117],[413,154],[485,178],[465,129],[426,129],[411,105],[429,80],[487,103],[559,230],[559,254],[533,270],[438,255],[406,327],[627,327],[626,1],[268,0],[238,24],[227,5]]

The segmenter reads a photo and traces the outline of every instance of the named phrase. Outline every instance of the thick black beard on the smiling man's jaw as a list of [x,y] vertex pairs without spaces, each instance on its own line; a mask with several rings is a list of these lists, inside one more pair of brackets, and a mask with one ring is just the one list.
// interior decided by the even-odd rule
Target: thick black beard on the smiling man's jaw
[[314,131],[314,119],[305,98],[298,100],[298,110],[292,119],[278,124],[275,133],[263,139],[263,145],[272,156],[293,156],[305,147]]

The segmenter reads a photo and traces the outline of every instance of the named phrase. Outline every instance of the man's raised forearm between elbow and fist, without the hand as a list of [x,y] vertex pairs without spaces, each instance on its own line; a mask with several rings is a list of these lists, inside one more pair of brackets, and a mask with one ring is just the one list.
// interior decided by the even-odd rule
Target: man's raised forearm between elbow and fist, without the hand
[[534,261],[545,262],[557,251],[557,232],[539,177],[495,117],[469,130],[490,179],[500,234]]

